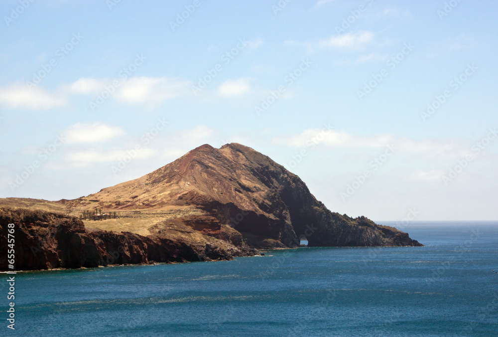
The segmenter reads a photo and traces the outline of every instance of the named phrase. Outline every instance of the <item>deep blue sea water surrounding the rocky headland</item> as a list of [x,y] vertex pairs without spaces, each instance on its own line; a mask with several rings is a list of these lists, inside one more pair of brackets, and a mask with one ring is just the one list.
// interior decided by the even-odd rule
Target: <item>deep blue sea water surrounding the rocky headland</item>
[[[381,222],[393,225],[393,223]],[[498,336],[498,222],[413,222],[426,247],[19,273],[1,336]]]

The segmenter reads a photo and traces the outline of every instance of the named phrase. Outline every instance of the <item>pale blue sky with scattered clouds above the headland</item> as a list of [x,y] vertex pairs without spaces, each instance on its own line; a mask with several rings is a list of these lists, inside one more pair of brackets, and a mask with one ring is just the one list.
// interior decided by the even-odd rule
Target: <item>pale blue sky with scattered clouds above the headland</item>
[[3,0],[0,197],[241,143],[330,210],[497,220],[498,2]]

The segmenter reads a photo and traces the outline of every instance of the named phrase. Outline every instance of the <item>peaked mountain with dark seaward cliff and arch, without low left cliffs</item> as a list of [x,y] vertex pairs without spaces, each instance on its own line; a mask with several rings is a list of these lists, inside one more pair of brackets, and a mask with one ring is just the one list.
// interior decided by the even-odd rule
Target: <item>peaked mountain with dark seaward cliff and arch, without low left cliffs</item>
[[329,211],[297,175],[237,143],[220,149],[200,146],[171,164],[77,202],[88,209],[175,209],[175,224],[209,231],[228,225],[256,248],[292,247],[303,236],[314,247],[419,245],[406,233],[365,217]]

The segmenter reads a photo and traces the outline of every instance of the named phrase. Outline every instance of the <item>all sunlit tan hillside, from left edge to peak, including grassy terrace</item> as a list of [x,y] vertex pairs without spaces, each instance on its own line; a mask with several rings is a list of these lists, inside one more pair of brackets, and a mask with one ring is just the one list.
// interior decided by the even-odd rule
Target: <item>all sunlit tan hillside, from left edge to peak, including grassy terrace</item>
[[[140,235],[151,234],[149,228],[161,224],[169,226],[171,233],[171,228],[184,225],[192,217],[216,222],[218,219],[202,207],[213,200],[220,204],[233,203],[237,209],[276,219],[271,213],[271,200],[267,198],[272,193],[271,185],[265,185],[253,175],[254,163],[251,162],[278,166],[268,157],[239,144],[222,149],[203,145],[149,174],[86,197],[60,201],[8,198],[0,200],[0,204],[74,216],[96,208],[104,214],[116,211],[116,219],[85,220],[85,226]],[[230,215],[235,218],[238,214],[226,217]],[[221,225],[215,224],[220,229]]]

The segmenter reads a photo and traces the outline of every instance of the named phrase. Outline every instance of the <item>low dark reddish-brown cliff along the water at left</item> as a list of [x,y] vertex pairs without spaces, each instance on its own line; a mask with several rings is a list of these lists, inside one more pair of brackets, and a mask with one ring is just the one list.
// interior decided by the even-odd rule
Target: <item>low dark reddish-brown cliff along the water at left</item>
[[[7,225],[14,223],[15,270],[91,268],[115,264],[231,260],[252,256],[247,246],[200,246],[164,237],[86,229],[79,219],[28,209],[0,212],[0,250],[7,251]],[[0,259],[0,270],[7,260]]]

